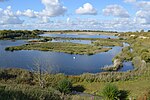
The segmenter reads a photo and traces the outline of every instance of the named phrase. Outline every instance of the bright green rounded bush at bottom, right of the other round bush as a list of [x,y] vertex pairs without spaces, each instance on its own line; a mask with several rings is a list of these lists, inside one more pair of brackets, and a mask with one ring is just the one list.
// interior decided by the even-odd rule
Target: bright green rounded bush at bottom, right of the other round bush
[[102,95],[106,100],[116,100],[121,94],[115,85],[109,83],[104,87]]

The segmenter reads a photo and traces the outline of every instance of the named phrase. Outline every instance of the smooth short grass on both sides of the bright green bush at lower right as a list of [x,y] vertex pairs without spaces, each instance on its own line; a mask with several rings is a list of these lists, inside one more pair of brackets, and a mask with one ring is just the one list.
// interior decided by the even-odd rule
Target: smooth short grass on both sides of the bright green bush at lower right
[[[136,80],[130,80],[130,81],[119,81],[119,82],[112,82],[117,87],[119,87],[119,90],[126,90],[129,91],[129,97],[132,98],[138,98],[144,94],[147,93],[147,91],[150,90],[150,78],[141,77]],[[82,85],[85,88],[86,93],[96,93],[99,95],[99,93],[102,93],[103,88],[105,87],[107,83],[106,82],[79,82],[75,85]],[[102,94],[100,94],[102,95]]]

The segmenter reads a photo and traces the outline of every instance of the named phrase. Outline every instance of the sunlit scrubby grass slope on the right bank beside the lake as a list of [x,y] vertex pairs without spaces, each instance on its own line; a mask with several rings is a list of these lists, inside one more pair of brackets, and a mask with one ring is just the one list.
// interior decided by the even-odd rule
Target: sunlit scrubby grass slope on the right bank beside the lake
[[[131,37],[134,35],[135,37]],[[150,33],[143,32],[131,32],[131,33],[124,33],[121,34],[126,38],[126,42],[130,44],[129,47],[123,48],[122,52],[120,52],[115,58],[119,58],[121,60],[132,61],[135,57],[140,57],[141,60],[145,62],[150,62]],[[144,36],[147,37],[145,39],[141,39],[140,37]],[[131,52],[132,49],[132,52]]]

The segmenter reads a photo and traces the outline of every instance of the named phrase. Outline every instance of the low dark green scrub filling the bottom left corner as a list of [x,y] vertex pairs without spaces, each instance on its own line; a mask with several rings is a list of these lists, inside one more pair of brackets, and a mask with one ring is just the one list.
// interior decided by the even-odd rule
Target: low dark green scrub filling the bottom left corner
[[59,93],[39,87],[0,85],[1,100],[61,100]]

